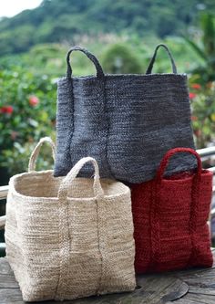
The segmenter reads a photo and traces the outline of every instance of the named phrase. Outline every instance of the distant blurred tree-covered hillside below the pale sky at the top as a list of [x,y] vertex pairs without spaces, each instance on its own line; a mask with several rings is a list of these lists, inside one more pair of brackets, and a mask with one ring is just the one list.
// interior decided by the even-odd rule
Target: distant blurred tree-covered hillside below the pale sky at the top
[[214,1],[44,0],[36,9],[0,21],[0,55],[24,52],[38,43],[74,44],[77,35],[175,36],[195,23],[202,7],[212,11]]

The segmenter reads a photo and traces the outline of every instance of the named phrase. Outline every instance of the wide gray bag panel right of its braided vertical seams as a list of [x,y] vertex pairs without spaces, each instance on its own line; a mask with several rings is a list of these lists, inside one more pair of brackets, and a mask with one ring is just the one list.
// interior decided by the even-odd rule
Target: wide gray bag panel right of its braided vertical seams
[[[181,75],[107,78],[107,158],[115,178],[151,180],[169,149],[194,148],[186,81]],[[167,173],[195,166],[192,156],[179,154]]]

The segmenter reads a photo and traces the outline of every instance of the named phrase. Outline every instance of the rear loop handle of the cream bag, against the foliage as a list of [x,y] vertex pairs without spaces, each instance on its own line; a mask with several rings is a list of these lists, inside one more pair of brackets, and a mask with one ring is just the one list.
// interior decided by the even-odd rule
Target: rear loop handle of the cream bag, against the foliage
[[56,158],[56,146],[55,146],[55,143],[52,141],[52,139],[50,137],[43,137],[36,144],[35,149],[31,153],[31,156],[30,156],[30,159],[29,159],[29,162],[28,162],[28,172],[35,171],[36,160],[37,160],[37,157],[39,155],[40,149],[41,149],[42,145],[44,144],[44,142],[47,142],[51,146],[51,148],[52,148],[52,157],[53,157],[53,160],[55,161],[55,158]]

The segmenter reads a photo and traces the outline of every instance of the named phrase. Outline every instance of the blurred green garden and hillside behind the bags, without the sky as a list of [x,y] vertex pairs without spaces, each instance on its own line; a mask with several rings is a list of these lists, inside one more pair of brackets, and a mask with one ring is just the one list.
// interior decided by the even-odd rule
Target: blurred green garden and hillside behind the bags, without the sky
[[[169,46],[189,76],[197,148],[215,144],[215,3],[213,0],[44,0],[0,20],[0,184],[26,171],[40,137],[56,137],[56,81],[67,49],[87,47],[106,73],[145,73],[154,47]],[[95,73],[72,55],[75,75]],[[159,51],[155,72],[170,72]],[[44,150],[38,169],[52,166]]]

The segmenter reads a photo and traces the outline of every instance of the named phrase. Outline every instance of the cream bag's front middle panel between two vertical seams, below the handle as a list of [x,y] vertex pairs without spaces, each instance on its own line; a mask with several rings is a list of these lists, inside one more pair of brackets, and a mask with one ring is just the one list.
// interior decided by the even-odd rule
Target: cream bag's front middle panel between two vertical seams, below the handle
[[96,201],[70,199],[68,216],[71,244],[65,299],[96,295],[101,275]]

